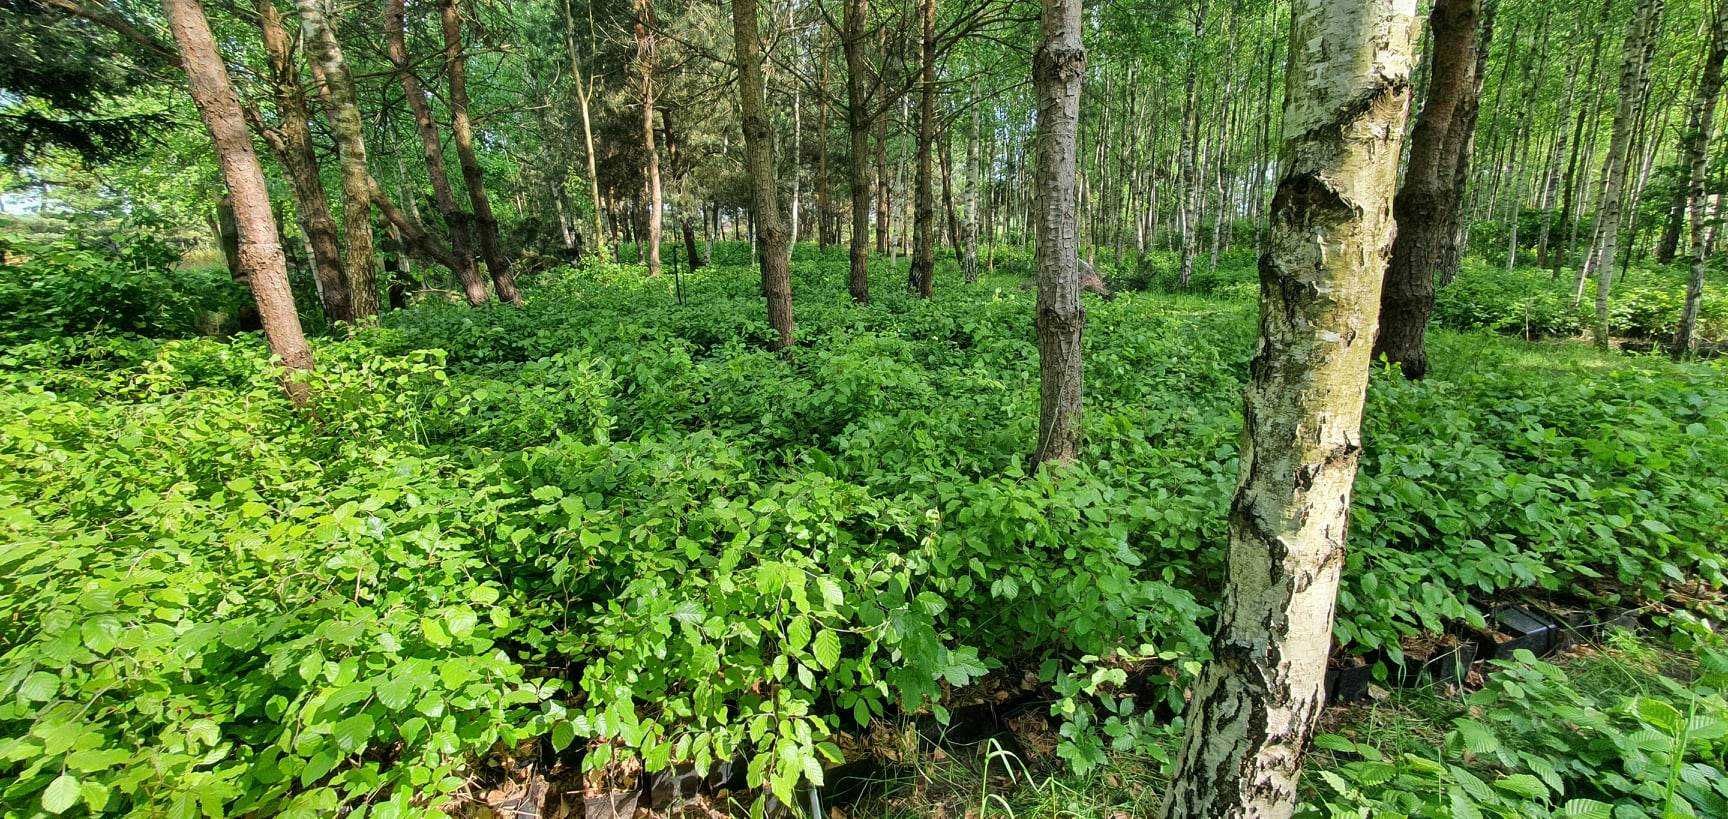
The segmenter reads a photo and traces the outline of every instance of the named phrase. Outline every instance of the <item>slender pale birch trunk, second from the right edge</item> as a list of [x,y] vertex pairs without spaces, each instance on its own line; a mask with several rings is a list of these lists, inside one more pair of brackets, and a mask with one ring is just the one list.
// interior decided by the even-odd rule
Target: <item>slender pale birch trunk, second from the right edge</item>
[[1614,130],[1609,133],[1609,156],[1602,166],[1602,199],[1597,202],[1597,221],[1591,230],[1591,249],[1578,271],[1572,304],[1585,294],[1585,282],[1597,276],[1597,320],[1591,340],[1597,347],[1609,346],[1609,287],[1614,280],[1614,254],[1619,247],[1623,194],[1626,169],[1631,162],[1631,140],[1643,98],[1650,92],[1650,60],[1655,57],[1655,33],[1662,17],[1662,0],[1638,0],[1638,9],[1626,28],[1624,59],[1621,62],[1619,104],[1614,107]]

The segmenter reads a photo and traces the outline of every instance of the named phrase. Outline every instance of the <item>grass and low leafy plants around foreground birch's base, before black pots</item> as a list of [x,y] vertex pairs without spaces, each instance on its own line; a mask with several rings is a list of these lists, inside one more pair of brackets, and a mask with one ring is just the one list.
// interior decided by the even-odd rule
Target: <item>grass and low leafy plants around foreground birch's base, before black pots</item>
[[[1683,643],[1685,644],[1685,643]],[[1471,689],[1393,689],[1332,708],[1299,817],[1728,816],[1728,653],[1614,631],[1538,660],[1521,651]],[[1156,816],[1180,726],[1075,774],[1033,734],[907,755],[850,816]]]

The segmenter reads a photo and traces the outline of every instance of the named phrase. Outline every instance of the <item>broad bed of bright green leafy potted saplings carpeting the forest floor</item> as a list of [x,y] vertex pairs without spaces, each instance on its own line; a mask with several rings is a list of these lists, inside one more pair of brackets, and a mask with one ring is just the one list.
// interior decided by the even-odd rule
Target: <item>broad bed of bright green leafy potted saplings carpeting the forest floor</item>
[[[1253,302],[1089,301],[1089,463],[1028,475],[1018,278],[923,302],[878,261],[855,308],[802,251],[781,356],[726,252],[684,304],[591,268],[320,340],[309,416],[256,337],[0,352],[0,805],[411,816],[536,745],[596,779],[745,759],[790,800],[845,734],[1021,672],[1075,769],[1154,731],[1097,691],[1156,667],[1137,708],[1170,708],[1204,658]],[[1723,584],[1721,363],[1434,359],[1374,378],[1343,651],[1507,589]]]

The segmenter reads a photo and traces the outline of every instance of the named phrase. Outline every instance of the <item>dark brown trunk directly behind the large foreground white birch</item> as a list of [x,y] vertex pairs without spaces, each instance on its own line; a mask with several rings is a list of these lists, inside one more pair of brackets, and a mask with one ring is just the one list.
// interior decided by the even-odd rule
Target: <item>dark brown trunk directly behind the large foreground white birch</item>
[[1393,200],[1398,238],[1381,294],[1381,333],[1374,354],[1398,365],[1405,377],[1427,373],[1427,316],[1434,309],[1434,278],[1446,264],[1453,242],[1452,213],[1464,190],[1455,185],[1458,156],[1469,135],[1460,109],[1481,85],[1476,81],[1476,33],[1481,0],[1438,0],[1429,16],[1434,38],[1427,98],[1410,133],[1410,166]]

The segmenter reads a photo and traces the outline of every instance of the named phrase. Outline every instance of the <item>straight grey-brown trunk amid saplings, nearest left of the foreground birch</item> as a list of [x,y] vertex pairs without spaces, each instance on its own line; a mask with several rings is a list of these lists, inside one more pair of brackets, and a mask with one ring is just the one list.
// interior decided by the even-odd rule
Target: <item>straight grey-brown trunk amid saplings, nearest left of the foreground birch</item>
[[1039,98],[1039,221],[1033,263],[1039,276],[1039,448],[1032,461],[1071,463],[1080,456],[1080,226],[1075,213],[1075,152],[1080,130],[1080,0],[1045,0],[1044,41],[1032,59]]

